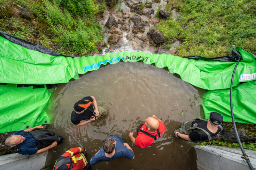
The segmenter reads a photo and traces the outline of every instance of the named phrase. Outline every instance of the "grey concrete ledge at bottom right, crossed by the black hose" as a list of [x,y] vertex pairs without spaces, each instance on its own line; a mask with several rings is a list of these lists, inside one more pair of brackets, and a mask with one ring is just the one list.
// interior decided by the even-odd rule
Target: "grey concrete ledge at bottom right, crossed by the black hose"
[[[198,170],[249,170],[246,161],[241,158],[240,148],[221,146],[201,146],[194,147],[197,155]],[[251,164],[256,168],[256,152],[245,150]]]

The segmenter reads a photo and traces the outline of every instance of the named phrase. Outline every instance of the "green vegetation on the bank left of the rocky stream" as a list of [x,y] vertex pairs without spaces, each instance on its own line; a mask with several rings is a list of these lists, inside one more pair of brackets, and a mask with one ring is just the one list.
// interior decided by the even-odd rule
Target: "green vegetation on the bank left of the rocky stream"
[[103,40],[96,15],[106,9],[104,0],[102,5],[94,0],[1,0],[0,5],[6,8],[0,15],[1,31],[60,53],[86,55]]

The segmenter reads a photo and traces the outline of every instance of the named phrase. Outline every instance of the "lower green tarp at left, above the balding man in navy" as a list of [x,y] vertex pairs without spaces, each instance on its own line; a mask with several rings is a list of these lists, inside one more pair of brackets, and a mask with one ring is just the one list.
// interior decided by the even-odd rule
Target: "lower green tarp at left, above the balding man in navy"
[[50,123],[45,112],[50,96],[46,88],[0,85],[0,133]]

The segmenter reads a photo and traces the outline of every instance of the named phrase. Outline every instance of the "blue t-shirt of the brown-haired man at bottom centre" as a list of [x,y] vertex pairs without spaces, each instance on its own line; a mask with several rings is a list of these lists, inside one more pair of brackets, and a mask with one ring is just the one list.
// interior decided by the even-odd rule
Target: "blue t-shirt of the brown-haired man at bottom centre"
[[90,160],[91,165],[95,165],[96,163],[99,163],[101,161],[111,161],[113,159],[118,159],[118,158],[123,158],[123,157],[128,158],[128,159],[133,159],[134,154],[133,154],[132,150],[130,150],[124,146],[124,143],[121,138],[119,138],[116,135],[111,135],[108,138],[113,138],[116,141],[115,154],[113,156],[111,156],[110,158],[107,157],[105,155],[105,152],[103,149],[103,146],[104,146],[104,144],[103,144],[100,151],[96,155],[94,155],[92,157],[92,159]]

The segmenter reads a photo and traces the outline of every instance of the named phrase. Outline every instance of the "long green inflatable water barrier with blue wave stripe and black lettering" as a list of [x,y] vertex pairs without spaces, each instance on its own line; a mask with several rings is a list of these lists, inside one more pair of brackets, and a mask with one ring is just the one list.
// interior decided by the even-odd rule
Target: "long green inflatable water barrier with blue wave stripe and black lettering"
[[[255,56],[241,48],[235,48],[235,50],[242,57],[242,61],[239,62],[236,68],[233,87],[238,86],[241,82],[256,80]],[[53,50],[49,52],[49,49],[46,47],[18,39],[9,34],[3,35],[3,32],[0,32],[0,83],[67,83],[72,78],[78,78],[79,74],[85,74],[88,71],[99,69],[101,65],[106,65],[107,63],[115,64],[119,61],[142,61],[146,64],[155,64],[156,67],[160,68],[167,67],[170,73],[179,74],[181,79],[194,86],[206,90],[220,91],[230,88],[231,77],[236,64],[235,61],[195,60],[171,54],[159,55],[138,51],[72,58],[59,55],[59,53]],[[5,90],[3,89],[3,91]],[[252,100],[256,102],[255,99]],[[207,108],[206,106],[211,105],[215,107],[212,103],[205,104],[205,118],[208,118],[210,113],[209,107]],[[219,101],[219,105],[224,104],[229,104],[229,101],[224,99]],[[5,106],[0,105],[0,109],[1,107]],[[238,107],[242,109],[245,106],[241,105]],[[25,109],[25,111],[29,110],[21,108],[20,112],[23,111],[22,109]],[[223,114],[224,121],[231,120],[225,109],[219,109],[219,113]],[[0,119],[5,120],[5,114],[8,114],[8,110],[0,113]],[[245,116],[244,118],[237,116],[243,113],[237,112],[234,114],[235,118],[237,118],[236,121],[247,121]],[[16,115],[16,118],[13,117],[13,120],[20,121],[20,117],[22,115]],[[27,117],[27,119],[30,118]],[[252,118],[249,122],[256,124],[256,119]]]

